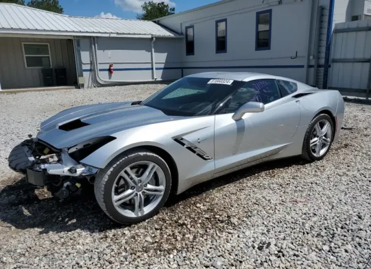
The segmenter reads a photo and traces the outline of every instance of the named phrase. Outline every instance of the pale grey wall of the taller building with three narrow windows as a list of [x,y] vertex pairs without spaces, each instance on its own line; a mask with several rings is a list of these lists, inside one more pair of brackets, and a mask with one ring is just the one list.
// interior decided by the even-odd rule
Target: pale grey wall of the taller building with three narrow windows
[[[314,59],[307,62],[307,58],[313,56],[316,11],[321,5],[323,13],[317,81],[322,86],[330,0],[314,1],[312,20],[312,1],[309,0],[284,0],[282,4],[276,1],[235,0],[163,18],[159,23],[181,33],[185,32],[186,26],[194,25],[195,55],[185,55],[184,41],[181,47],[184,75],[208,71],[206,67],[209,66],[213,71],[260,72],[313,85]],[[256,51],[256,12],[268,9],[272,9],[271,49]],[[228,51],[215,54],[215,20],[224,18],[228,21]]]

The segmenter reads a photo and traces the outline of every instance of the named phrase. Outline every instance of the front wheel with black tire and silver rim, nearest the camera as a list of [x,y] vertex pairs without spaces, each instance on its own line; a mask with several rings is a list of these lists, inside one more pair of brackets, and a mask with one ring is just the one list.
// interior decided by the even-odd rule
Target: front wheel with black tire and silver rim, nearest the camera
[[[144,174],[139,177],[139,174],[137,175],[135,173],[141,173],[141,171],[145,173],[147,169],[145,169],[144,165],[147,163],[148,168],[152,164],[153,167],[156,167],[154,168],[154,170],[156,171],[153,172],[153,176],[147,177],[150,178],[150,183],[155,183],[139,184],[138,181],[145,178]],[[140,165],[142,165],[144,168],[142,168],[142,166]],[[128,171],[128,168],[132,172],[132,174],[128,174],[126,172]],[[125,174],[125,177],[121,177],[122,174]],[[134,180],[134,177],[128,175],[134,175],[136,180]],[[120,183],[123,184],[119,185]],[[159,183],[159,190],[156,191],[159,191],[161,193],[163,192],[163,195],[160,196],[160,194],[147,194],[147,185],[148,188],[149,186],[157,187],[157,183]],[[160,183],[162,184],[162,186],[160,186]],[[132,184],[135,184],[135,186]],[[120,188],[123,189],[121,193],[118,192]],[[118,200],[118,203],[122,203],[121,205],[115,206],[113,202],[115,197],[123,195],[124,192],[130,192],[130,189],[133,190],[134,194],[129,193],[130,195],[127,195],[125,198]],[[94,182],[94,193],[99,206],[112,220],[121,224],[138,223],[156,215],[164,206],[169,196],[170,190],[171,173],[167,163],[159,155],[144,149],[131,151],[126,154],[117,156],[105,167],[105,169],[101,170],[98,173]],[[153,192],[156,191],[153,190]],[[134,196],[128,201],[122,202],[122,200],[125,200],[131,195]],[[151,199],[153,201],[150,204],[149,201]],[[154,201],[156,201],[156,203],[154,203]],[[139,205],[138,207],[136,207],[137,203]],[[146,203],[149,204],[145,206]],[[136,208],[139,210],[136,211]],[[142,210],[140,210],[141,208]]]

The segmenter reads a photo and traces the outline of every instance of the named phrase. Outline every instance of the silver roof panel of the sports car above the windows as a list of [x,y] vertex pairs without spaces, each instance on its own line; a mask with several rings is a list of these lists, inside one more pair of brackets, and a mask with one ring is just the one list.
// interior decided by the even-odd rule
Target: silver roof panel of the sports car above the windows
[[314,88],[310,85],[307,85],[297,80],[280,77],[280,76],[263,74],[263,73],[253,73],[253,72],[204,72],[204,73],[192,74],[187,77],[210,78],[210,79],[231,79],[231,80],[246,81],[246,82],[251,81],[251,80],[257,80],[257,79],[281,79],[281,80],[286,80],[286,81],[297,83],[301,90]]

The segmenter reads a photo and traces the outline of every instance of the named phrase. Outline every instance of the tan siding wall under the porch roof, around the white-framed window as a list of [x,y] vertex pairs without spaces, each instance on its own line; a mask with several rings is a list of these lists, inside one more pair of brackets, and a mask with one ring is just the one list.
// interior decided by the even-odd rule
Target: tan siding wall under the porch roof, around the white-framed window
[[41,69],[26,69],[22,42],[49,43],[52,67],[65,67],[67,84],[77,83],[72,40],[0,37],[0,83],[2,88],[44,86]]

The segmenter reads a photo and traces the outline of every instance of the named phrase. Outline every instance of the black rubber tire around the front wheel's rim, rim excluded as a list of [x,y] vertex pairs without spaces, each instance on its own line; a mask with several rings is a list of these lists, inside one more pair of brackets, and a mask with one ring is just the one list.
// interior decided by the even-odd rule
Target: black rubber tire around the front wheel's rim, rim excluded
[[[117,158],[116,161],[119,161],[122,158]],[[112,202],[112,187],[115,179],[117,178],[118,174],[125,169],[125,167],[129,166],[132,163],[135,163],[137,161],[152,161],[159,165],[162,169],[162,171],[165,174],[165,180],[166,180],[166,187],[165,187],[165,193],[162,196],[162,199],[160,203],[157,205],[155,209],[153,209],[150,213],[137,217],[137,218],[129,218],[126,216],[121,215],[114,207]],[[158,155],[152,153],[152,152],[135,152],[132,154],[128,154],[128,157],[126,157],[124,160],[122,160],[118,165],[114,167],[110,175],[108,176],[108,179],[105,184],[104,193],[103,193],[103,201],[106,206],[106,210],[109,214],[109,216],[122,224],[133,224],[137,223],[143,220],[146,220],[154,215],[156,215],[160,209],[164,206],[169,193],[171,189],[171,174],[168,165],[166,162]]]

